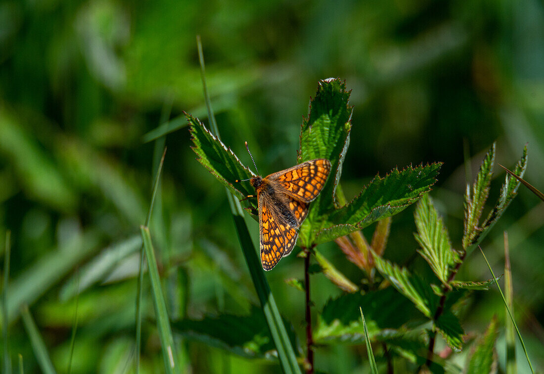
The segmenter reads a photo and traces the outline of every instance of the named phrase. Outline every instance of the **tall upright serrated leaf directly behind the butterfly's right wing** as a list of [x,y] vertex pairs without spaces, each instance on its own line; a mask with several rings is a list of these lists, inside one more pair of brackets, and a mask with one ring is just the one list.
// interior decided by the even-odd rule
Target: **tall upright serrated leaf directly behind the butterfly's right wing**
[[322,216],[333,207],[336,186],[349,146],[351,113],[350,92],[345,82],[328,79],[318,82],[316,97],[310,101],[310,113],[302,122],[297,161],[323,158],[331,162],[331,172],[323,190],[310,205],[310,212],[299,231],[299,243],[309,248],[322,228]]

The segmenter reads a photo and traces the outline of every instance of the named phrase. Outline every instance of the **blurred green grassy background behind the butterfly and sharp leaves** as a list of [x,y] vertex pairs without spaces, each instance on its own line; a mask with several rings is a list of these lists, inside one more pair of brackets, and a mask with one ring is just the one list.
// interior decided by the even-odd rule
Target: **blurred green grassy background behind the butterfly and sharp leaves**
[[[318,80],[340,77],[355,106],[342,176],[348,197],[376,173],[443,161],[431,196],[459,248],[466,178],[492,142],[498,162],[510,168],[528,143],[526,179],[544,190],[542,2],[3,0],[0,242],[11,230],[11,359],[20,353],[26,372],[39,369],[20,306],[29,305],[63,371],[78,279],[72,371],[133,370],[138,227],[162,153],[162,140],[144,142],[144,135],[168,119],[184,123],[182,111],[207,122],[197,34],[222,140],[251,165],[248,141],[264,175],[294,165]],[[171,318],[246,313],[257,298],[225,189],[195,161],[187,128],[171,132],[165,144],[151,233]],[[496,173],[490,205],[504,176]],[[483,243],[502,274],[503,231],[509,233],[516,315],[533,353],[544,342],[543,222],[544,203],[522,187]],[[257,223],[248,224],[257,243]],[[394,216],[391,231],[386,257],[424,268],[414,255],[413,207]],[[359,270],[333,243],[321,251],[358,282]],[[301,276],[296,256],[267,273],[299,337],[303,294],[283,280]],[[489,278],[476,252],[458,276]],[[316,311],[340,293],[322,275],[312,282]],[[142,364],[154,372],[162,357],[146,287]],[[493,313],[504,318],[498,293],[478,293],[463,317],[465,330],[484,331]],[[178,345],[193,372],[279,370],[202,343],[180,338]],[[503,334],[498,351],[503,368]],[[318,348],[316,366],[366,372],[365,352]],[[533,355],[533,362],[542,367],[542,357]]]

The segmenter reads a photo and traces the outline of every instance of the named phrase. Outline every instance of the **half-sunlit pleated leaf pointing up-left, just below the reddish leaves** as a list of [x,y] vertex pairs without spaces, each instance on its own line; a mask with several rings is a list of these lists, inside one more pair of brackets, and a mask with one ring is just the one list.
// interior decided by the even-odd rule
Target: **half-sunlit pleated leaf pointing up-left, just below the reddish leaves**
[[406,268],[374,255],[376,269],[391,282],[393,287],[410,299],[426,317],[432,318],[438,301],[437,295],[432,291],[429,282],[425,282],[417,275],[412,275]]

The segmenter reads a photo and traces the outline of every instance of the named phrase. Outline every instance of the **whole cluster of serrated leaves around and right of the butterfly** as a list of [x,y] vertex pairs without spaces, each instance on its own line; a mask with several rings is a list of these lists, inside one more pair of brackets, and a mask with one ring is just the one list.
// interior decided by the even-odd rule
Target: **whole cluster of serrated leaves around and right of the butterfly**
[[[346,292],[339,298],[331,299],[320,311],[314,330],[314,343],[362,344],[365,335],[358,310],[362,307],[367,320],[368,336],[373,342],[382,343],[388,353],[422,365],[426,361],[425,352],[429,348],[429,341],[434,342],[436,331],[440,332],[454,351],[462,349],[465,332],[455,314],[456,307],[468,292],[487,289],[493,280],[457,281],[455,274],[466,256],[479,245],[503,214],[516,195],[520,183],[507,175],[497,204],[487,218],[481,220],[489,196],[495,157],[493,144],[474,185],[472,188],[467,187],[465,232],[460,250],[453,248],[448,230],[427,195],[436,182],[440,163],[409,166],[401,171],[395,169],[385,177],[376,176],[358,196],[347,202],[339,180],[351,130],[353,107],[349,105],[349,95],[342,81],[320,81],[317,95],[311,100],[310,113],[301,127],[298,162],[326,158],[331,161],[332,171],[322,193],[311,204],[307,219],[300,228],[298,245],[312,249],[319,271]],[[198,119],[190,115],[187,118],[193,135],[193,149],[199,162],[238,198],[253,194],[249,182],[236,183],[235,180],[251,178],[255,174],[243,166],[230,148],[213,136]],[[514,173],[522,176],[526,165],[527,154],[524,150]],[[428,262],[436,275],[435,280],[413,274],[381,257],[390,232],[390,217],[418,200],[415,212],[415,238],[421,247],[418,253]],[[254,212],[255,208],[255,202],[246,202],[248,212]],[[378,225],[372,242],[368,243],[361,229],[374,222],[378,222]],[[363,282],[368,285],[367,292],[361,292],[355,283],[314,248],[317,244],[331,240],[335,240],[348,260],[362,270],[362,278],[366,278]],[[376,276],[375,269],[381,277]],[[288,280],[288,283],[304,291],[300,280]],[[399,293],[404,298],[399,297]],[[398,313],[398,310],[403,310],[403,313]],[[263,330],[260,328],[245,334],[248,339],[243,342],[233,341],[228,334],[221,333],[222,329],[210,329],[210,325],[220,325],[225,318],[235,317],[220,316],[200,322],[183,321],[175,327],[187,336],[199,336],[200,340],[224,346],[232,352],[268,357],[270,347],[262,342],[268,342],[270,337],[263,340]],[[496,323],[490,325],[484,345],[489,346],[489,336],[494,336],[495,329]],[[209,331],[214,332],[212,334]],[[484,345],[478,352],[485,350]],[[248,347],[253,349],[249,350]],[[300,352],[300,347],[297,348]],[[433,370],[443,371],[449,365],[436,357],[433,361],[430,364]]]

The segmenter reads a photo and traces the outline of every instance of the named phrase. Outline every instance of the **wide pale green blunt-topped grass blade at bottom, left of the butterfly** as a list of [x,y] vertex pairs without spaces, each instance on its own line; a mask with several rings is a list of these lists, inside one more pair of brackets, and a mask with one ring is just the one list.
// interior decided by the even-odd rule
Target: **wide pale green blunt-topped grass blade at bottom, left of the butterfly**
[[160,285],[159,270],[157,269],[157,260],[151,243],[151,234],[149,228],[140,226],[142,240],[144,241],[145,256],[149,264],[149,278],[151,280],[151,289],[153,293],[153,305],[155,307],[155,317],[157,318],[157,329],[159,331],[160,348],[163,351],[164,370],[166,373],[178,372],[178,366],[174,358],[174,337],[170,328],[168,311],[164,301],[163,290]]

